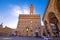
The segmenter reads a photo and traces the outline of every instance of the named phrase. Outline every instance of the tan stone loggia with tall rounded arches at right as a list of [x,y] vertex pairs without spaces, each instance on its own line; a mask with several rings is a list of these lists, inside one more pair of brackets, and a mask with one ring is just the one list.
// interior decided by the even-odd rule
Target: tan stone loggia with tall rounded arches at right
[[[60,32],[60,0],[48,0],[48,4],[43,16],[44,31],[46,36],[58,37]],[[52,27],[55,26],[56,29]]]

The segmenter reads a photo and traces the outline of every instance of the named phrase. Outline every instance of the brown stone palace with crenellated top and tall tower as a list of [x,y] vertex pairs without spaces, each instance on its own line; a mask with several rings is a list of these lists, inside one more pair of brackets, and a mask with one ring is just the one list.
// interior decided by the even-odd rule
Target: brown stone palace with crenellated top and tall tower
[[33,5],[30,5],[29,15],[19,15],[17,31],[20,36],[40,36],[40,15],[33,14]]

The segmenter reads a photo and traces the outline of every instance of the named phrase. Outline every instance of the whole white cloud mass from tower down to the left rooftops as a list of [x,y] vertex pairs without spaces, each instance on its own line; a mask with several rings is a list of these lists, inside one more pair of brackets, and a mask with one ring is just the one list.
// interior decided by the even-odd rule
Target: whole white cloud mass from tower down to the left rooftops
[[27,6],[23,6],[23,8],[21,8],[20,6],[17,6],[17,5],[15,5],[15,6],[10,5],[10,8],[11,8],[10,13],[14,16],[11,19],[9,19],[10,22],[8,22],[8,23],[5,22],[3,25],[15,29],[17,27],[17,23],[18,23],[18,15],[19,14],[29,14],[29,9]]

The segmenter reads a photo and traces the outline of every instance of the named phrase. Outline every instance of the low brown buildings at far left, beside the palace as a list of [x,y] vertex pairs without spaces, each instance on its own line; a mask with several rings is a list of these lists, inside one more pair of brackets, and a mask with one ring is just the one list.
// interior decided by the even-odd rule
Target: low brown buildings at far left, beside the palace
[[9,36],[10,34],[12,34],[14,29],[11,29],[9,27],[5,27],[3,28],[3,24],[0,25],[0,36]]

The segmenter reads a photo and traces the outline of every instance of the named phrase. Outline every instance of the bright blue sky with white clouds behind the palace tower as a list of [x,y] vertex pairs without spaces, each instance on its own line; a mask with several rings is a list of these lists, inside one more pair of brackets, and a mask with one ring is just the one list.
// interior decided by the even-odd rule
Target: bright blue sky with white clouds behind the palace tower
[[34,6],[34,14],[41,18],[46,9],[48,0],[0,0],[0,24],[16,28],[19,14],[29,14],[30,4]]

